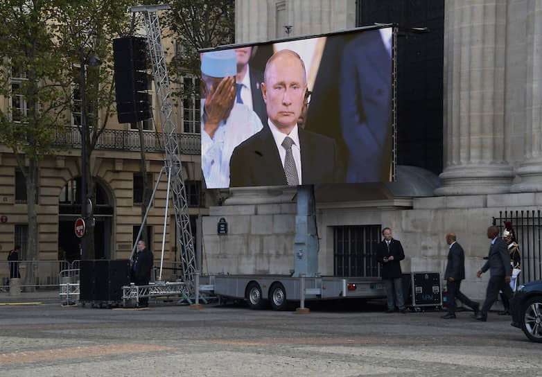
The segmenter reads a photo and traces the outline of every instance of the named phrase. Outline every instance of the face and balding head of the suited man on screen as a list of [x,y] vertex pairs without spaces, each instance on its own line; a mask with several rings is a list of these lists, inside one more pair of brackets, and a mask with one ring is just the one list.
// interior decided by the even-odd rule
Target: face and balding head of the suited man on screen
[[304,70],[299,59],[282,55],[270,63],[262,94],[269,119],[279,130],[289,133],[297,123],[305,90]]

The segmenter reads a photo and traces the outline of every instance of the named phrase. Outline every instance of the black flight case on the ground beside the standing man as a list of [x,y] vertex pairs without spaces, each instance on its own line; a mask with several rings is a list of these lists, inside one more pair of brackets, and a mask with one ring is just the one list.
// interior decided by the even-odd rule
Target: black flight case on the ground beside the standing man
[[421,306],[442,306],[440,273],[403,273],[403,296],[405,305],[414,309]]

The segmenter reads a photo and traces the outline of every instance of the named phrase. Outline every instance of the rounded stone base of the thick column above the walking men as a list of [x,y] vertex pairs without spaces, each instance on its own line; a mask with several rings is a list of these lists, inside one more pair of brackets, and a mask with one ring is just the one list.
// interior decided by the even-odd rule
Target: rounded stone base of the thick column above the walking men
[[450,166],[439,175],[437,196],[509,193],[514,169],[505,164]]

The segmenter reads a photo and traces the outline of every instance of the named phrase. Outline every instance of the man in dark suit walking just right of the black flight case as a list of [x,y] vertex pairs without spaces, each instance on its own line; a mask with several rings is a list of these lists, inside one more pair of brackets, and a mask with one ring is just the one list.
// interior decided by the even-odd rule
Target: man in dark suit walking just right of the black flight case
[[455,233],[446,234],[446,243],[450,245],[448,251],[448,264],[446,272],[444,272],[444,280],[448,287],[448,314],[444,315],[444,319],[455,318],[455,299],[459,299],[466,306],[470,306],[474,310],[474,314],[478,314],[478,303],[466,297],[461,291],[461,281],[465,279],[465,254],[463,248],[455,241]]

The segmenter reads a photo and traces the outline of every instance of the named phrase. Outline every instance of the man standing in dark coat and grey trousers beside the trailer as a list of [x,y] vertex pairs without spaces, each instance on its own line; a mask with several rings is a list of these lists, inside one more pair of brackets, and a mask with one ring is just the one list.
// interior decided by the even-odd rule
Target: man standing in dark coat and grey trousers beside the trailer
[[386,284],[387,310],[393,313],[395,305],[399,312],[406,313],[405,299],[403,298],[403,273],[401,261],[405,258],[403,246],[398,240],[392,238],[392,229],[384,228],[384,239],[378,244],[378,262],[382,263],[382,280]]

